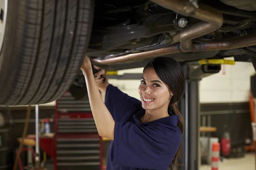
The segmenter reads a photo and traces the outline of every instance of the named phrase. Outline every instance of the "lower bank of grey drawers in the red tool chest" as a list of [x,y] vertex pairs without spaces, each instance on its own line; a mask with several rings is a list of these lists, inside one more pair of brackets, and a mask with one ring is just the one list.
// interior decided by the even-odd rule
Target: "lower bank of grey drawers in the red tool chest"
[[99,170],[99,138],[58,138],[56,149],[58,170],[69,168]]

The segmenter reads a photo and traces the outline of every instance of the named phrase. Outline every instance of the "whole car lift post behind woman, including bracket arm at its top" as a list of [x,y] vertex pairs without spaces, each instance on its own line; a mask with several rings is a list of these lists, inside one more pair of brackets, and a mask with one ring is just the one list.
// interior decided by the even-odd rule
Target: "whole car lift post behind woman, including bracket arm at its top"
[[221,64],[198,65],[191,62],[183,65],[185,91],[180,99],[180,113],[184,119],[180,170],[198,170],[200,168],[200,100],[199,83],[203,77],[221,71]]

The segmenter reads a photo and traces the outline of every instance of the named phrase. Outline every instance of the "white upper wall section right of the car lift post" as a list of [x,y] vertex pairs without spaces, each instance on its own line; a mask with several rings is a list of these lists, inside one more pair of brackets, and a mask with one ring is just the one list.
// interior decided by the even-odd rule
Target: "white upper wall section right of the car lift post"
[[201,80],[200,102],[247,102],[250,91],[250,76],[253,74],[255,74],[255,70],[250,62],[222,65],[218,74]]

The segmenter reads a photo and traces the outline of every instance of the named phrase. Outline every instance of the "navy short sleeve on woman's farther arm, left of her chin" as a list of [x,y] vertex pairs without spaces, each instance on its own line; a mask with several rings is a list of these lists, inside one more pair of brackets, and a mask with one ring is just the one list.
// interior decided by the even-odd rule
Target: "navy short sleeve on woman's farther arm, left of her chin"
[[141,110],[140,100],[125,94],[113,85],[108,85],[105,105],[115,121],[122,121],[136,110]]

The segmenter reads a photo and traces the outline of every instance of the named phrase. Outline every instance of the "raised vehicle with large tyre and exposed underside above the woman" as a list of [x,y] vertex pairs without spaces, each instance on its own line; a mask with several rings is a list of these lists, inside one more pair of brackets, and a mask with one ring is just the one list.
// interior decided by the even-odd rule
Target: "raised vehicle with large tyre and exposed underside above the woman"
[[108,70],[157,56],[233,56],[256,68],[249,0],[1,0],[0,8],[0,105],[58,99],[79,86],[85,54]]

